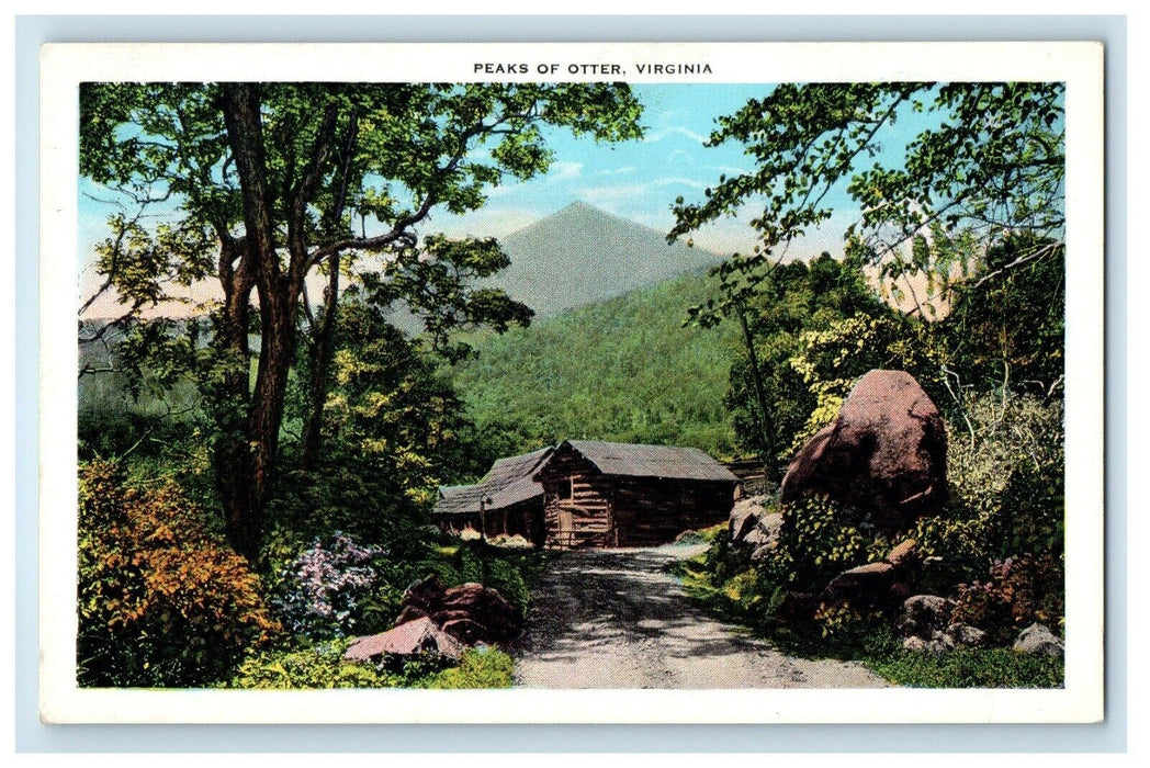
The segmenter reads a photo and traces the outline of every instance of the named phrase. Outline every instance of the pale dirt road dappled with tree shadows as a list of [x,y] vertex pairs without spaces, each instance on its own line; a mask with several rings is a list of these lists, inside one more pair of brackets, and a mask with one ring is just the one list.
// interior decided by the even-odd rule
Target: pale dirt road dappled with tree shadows
[[877,688],[857,663],[783,655],[692,605],[664,571],[698,547],[558,554],[516,652],[524,688]]

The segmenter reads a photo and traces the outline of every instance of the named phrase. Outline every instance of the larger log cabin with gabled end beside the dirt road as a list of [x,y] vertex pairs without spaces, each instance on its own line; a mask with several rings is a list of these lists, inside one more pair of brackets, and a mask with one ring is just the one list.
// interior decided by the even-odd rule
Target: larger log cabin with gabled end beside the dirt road
[[534,474],[546,544],[555,548],[667,544],[723,522],[738,478],[698,448],[561,443]]

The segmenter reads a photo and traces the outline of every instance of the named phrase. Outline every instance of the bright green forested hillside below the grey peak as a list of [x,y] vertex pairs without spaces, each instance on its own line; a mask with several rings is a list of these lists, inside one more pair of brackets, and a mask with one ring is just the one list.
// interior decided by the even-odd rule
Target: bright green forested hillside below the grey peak
[[714,278],[685,275],[473,341],[454,381],[504,455],[565,438],[737,453],[723,406],[737,328],[683,328]]

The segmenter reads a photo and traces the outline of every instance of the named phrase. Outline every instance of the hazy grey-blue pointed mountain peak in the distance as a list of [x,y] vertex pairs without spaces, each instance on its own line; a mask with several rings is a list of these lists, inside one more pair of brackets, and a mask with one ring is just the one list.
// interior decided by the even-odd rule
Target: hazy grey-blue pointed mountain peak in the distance
[[585,202],[500,239],[511,266],[485,281],[547,317],[658,285],[716,264],[721,256]]

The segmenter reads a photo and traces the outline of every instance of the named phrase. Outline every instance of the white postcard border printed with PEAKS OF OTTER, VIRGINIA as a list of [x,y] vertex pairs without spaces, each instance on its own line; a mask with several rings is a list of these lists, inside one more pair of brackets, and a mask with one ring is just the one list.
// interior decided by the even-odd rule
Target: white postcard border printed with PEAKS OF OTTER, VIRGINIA
[[[1066,679],[1060,690],[143,691],[77,689],[76,182],[84,80],[491,79],[475,61],[558,63],[498,79],[632,83],[1063,80],[1066,89]],[[711,74],[637,75],[705,62]],[[596,79],[619,79],[604,76]],[[91,723],[1096,722],[1103,715],[1103,78],[1094,43],[75,44],[41,51],[40,713]],[[62,310],[67,307],[67,310]]]

